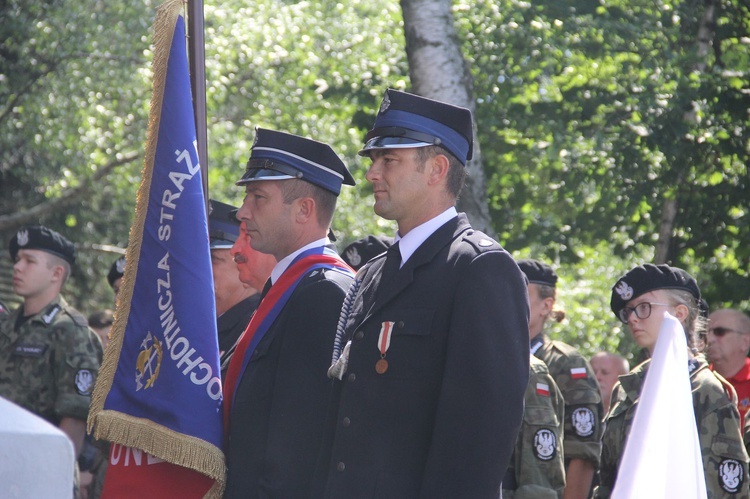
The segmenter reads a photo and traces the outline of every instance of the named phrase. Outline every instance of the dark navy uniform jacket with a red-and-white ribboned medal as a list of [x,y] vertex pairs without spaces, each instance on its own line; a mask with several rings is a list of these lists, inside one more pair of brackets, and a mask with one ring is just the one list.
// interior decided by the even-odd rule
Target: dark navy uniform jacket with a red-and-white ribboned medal
[[[529,376],[524,278],[463,214],[381,281],[384,261],[357,275],[348,370],[334,381],[322,455],[324,495],[496,498]],[[388,369],[378,374],[388,323]]]

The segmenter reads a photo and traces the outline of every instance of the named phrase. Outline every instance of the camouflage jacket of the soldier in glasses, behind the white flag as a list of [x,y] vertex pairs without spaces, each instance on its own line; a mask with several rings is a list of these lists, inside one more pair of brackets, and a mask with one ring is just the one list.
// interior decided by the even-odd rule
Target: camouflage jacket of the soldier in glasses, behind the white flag
[[[635,416],[643,381],[651,361],[647,360],[620,376],[612,392],[612,407],[607,414],[603,437],[600,485],[594,493],[596,498],[611,495],[617,479],[617,467],[623,447]],[[706,491],[709,499],[748,497],[748,455],[742,445],[740,416],[734,393],[723,378],[708,369],[708,363],[700,356],[692,362],[690,385],[693,393],[693,409],[698,425],[698,439],[703,455],[706,476]],[[727,464],[736,469],[742,465],[739,476],[729,476],[721,470]]]

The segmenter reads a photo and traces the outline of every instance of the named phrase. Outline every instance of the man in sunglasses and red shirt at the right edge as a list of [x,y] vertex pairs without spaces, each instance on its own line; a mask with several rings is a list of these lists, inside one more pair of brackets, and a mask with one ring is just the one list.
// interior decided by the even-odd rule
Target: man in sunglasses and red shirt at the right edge
[[731,308],[712,312],[704,341],[711,369],[737,391],[737,408],[744,427],[745,414],[750,409],[750,317]]

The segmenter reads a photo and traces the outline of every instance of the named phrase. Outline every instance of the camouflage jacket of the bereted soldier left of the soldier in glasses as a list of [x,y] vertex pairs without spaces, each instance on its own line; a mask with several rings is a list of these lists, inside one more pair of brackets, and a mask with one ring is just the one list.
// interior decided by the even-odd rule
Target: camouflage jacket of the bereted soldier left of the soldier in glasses
[[[541,344],[535,348],[538,342]],[[565,464],[582,459],[599,466],[604,406],[594,370],[572,346],[542,334],[532,340],[532,353],[544,361],[565,399]]]

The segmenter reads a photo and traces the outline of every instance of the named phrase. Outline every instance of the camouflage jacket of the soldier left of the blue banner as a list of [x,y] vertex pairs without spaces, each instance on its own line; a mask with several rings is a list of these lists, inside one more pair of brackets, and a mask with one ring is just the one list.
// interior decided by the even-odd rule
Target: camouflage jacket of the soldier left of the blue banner
[[0,318],[0,396],[54,425],[85,420],[102,345],[86,318],[58,296],[18,330],[23,307]]

